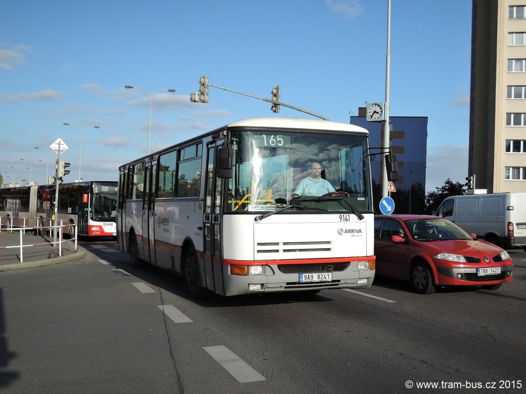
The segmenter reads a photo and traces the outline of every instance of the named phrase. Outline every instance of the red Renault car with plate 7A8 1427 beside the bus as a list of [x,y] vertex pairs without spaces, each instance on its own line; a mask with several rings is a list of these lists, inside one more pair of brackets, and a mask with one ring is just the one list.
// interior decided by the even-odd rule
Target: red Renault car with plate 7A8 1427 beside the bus
[[409,281],[419,294],[437,286],[494,290],[513,276],[508,252],[436,216],[376,215],[375,255],[377,275]]

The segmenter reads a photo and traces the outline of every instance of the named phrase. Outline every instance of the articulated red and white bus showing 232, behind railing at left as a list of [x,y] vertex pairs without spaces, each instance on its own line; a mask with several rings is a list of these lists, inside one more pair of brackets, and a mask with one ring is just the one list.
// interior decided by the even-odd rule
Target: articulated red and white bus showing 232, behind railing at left
[[[55,185],[0,189],[2,225],[52,225]],[[58,186],[57,219],[77,224],[78,235],[116,236],[117,182],[90,181]],[[13,222],[14,221],[14,222]],[[68,227],[73,235],[74,227]]]

